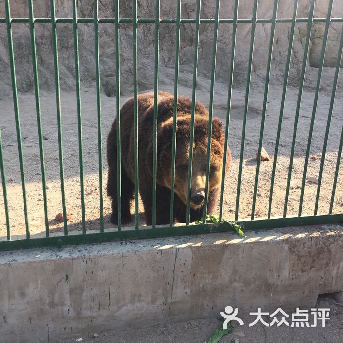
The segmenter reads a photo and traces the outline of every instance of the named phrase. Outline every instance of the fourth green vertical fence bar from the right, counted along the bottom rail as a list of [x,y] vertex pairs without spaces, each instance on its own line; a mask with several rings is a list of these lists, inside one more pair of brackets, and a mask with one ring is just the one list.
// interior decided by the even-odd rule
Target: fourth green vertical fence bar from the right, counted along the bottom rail
[[295,119],[294,119],[293,139],[292,139],[292,147],[291,147],[291,155],[290,155],[290,164],[288,167],[286,195],[285,195],[285,203],[284,203],[284,211],[283,211],[283,217],[284,218],[287,216],[287,206],[288,206],[288,197],[290,194],[290,186],[291,186],[291,176],[292,176],[292,166],[293,166],[294,149],[295,149],[295,142],[296,142],[296,133],[297,133],[297,128],[298,128],[302,91],[303,91],[304,80],[305,80],[306,62],[307,62],[307,57],[308,57],[308,53],[309,53],[309,44],[310,44],[310,38],[311,38],[314,9],[315,9],[315,0],[312,0],[310,12],[309,12],[309,16],[308,16],[308,21],[307,21],[307,35],[306,35],[306,42],[305,42],[305,48],[304,48],[304,57],[302,60],[302,69],[301,69],[301,76],[300,76],[300,83],[299,83],[299,93],[298,93],[298,100],[297,100]]

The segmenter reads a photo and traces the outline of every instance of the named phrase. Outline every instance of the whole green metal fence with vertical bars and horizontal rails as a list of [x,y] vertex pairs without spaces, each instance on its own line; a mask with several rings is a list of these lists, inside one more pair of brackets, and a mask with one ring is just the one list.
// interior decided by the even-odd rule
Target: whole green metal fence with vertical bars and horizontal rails
[[[244,23],[246,25],[251,25],[251,39],[250,39],[250,49],[249,49],[249,61],[248,61],[248,73],[247,82],[245,90],[245,103],[244,103],[244,117],[243,117],[243,127],[241,135],[241,148],[240,148],[240,162],[239,162],[239,173],[238,173],[238,185],[237,185],[237,198],[236,198],[236,212],[235,219],[239,218],[239,204],[240,204],[240,188],[242,182],[242,169],[243,169],[243,156],[245,148],[245,130],[247,123],[247,113],[249,104],[249,92],[251,84],[251,73],[252,73],[252,62],[254,54],[254,43],[255,43],[255,31],[257,23],[271,23],[270,31],[270,43],[269,43],[269,54],[268,54],[268,66],[266,72],[265,80],[265,90],[263,98],[263,108],[261,115],[261,125],[259,134],[259,147],[257,156],[257,168],[255,174],[255,182],[253,189],[253,202],[251,219],[241,221],[245,229],[263,229],[276,226],[288,226],[288,225],[302,225],[302,224],[314,224],[314,223],[330,223],[330,222],[343,222],[343,214],[332,214],[333,204],[335,199],[335,191],[337,188],[338,175],[340,162],[342,157],[342,147],[343,147],[343,127],[342,134],[339,143],[339,150],[337,156],[335,176],[333,180],[332,196],[329,204],[329,211],[326,215],[318,215],[318,204],[320,189],[322,183],[322,174],[325,162],[325,154],[327,148],[328,135],[330,130],[331,118],[333,113],[333,107],[335,102],[335,95],[337,90],[337,83],[341,65],[342,49],[343,49],[343,27],[340,36],[340,43],[338,47],[338,57],[335,67],[335,76],[333,79],[333,88],[331,94],[330,108],[328,113],[327,125],[325,130],[325,139],[322,149],[322,159],[320,164],[320,174],[319,182],[316,194],[315,211],[312,216],[302,215],[303,200],[304,200],[304,189],[306,182],[306,172],[307,165],[310,157],[310,147],[314,128],[314,122],[316,118],[317,102],[319,97],[320,81],[323,72],[325,49],[327,44],[329,25],[330,23],[343,23],[343,18],[332,18],[332,7],[333,0],[329,0],[328,11],[326,18],[314,18],[315,0],[311,0],[309,16],[307,18],[298,18],[298,0],[294,0],[294,10],[292,18],[277,18],[278,10],[278,0],[274,0],[273,12],[271,18],[257,18],[258,10],[258,0],[253,2],[252,18],[238,18],[238,7],[239,0],[235,0],[234,12],[232,13],[232,18],[220,19],[219,9],[220,0],[216,0],[215,18],[201,18],[201,0],[197,0],[196,5],[196,18],[184,19],[181,18],[181,0],[177,2],[177,16],[176,18],[160,18],[160,0],[156,0],[156,13],[155,18],[137,18],[137,0],[133,0],[133,16],[132,18],[120,18],[119,17],[119,0],[114,0],[115,2],[115,18],[99,18],[98,17],[98,0],[94,0],[94,17],[93,18],[78,18],[77,17],[77,0],[73,0],[73,18],[56,18],[55,0],[50,0],[51,7],[51,18],[35,18],[33,1],[29,0],[29,18],[12,18],[10,11],[9,0],[4,1],[5,5],[5,18],[0,18],[0,25],[6,25],[8,34],[8,52],[10,61],[10,70],[12,78],[12,90],[13,90],[13,101],[14,101],[14,114],[16,122],[16,133],[17,133],[17,143],[18,143],[18,153],[20,161],[20,172],[21,172],[21,185],[23,193],[24,202],[24,212],[25,212],[25,227],[26,227],[26,239],[21,240],[11,240],[11,224],[8,208],[7,199],[7,189],[6,189],[6,177],[5,177],[5,165],[3,157],[3,147],[1,141],[1,129],[0,129],[0,172],[2,180],[2,190],[4,197],[4,207],[5,207],[5,217],[6,217],[6,228],[7,228],[7,241],[0,241],[0,250],[12,250],[17,248],[30,248],[30,247],[40,247],[47,245],[73,245],[80,243],[98,243],[111,240],[125,240],[125,239],[135,239],[135,238],[147,238],[147,237],[163,237],[171,235],[183,235],[183,234],[194,234],[194,233],[208,233],[208,232],[220,232],[231,230],[231,226],[227,222],[222,222],[223,219],[223,195],[224,195],[224,183],[225,183],[225,166],[226,166],[226,151],[228,148],[228,138],[229,138],[229,124],[230,124],[230,114],[231,114],[231,99],[232,99],[232,86],[233,86],[233,75],[234,75],[234,61],[235,61],[235,48],[236,48],[236,35],[237,35],[237,25]],[[13,35],[12,35],[12,24],[13,23],[28,23],[31,34],[31,49],[32,49],[32,67],[34,76],[34,91],[36,100],[36,110],[37,110],[37,125],[38,125],[38,136],[39,136],[39,152],[40,152],[40,162],[41,162],[41,175],[42,175],[42,186],[43,186],[43,206],[44,206],[44,219],[45,219],[45,238],[30,238],[30,226],[27,215],[27,197],[25,188],[25,170],[23,161],[23,149],[21,141],[21,124],[20,124],[20,113],[18,104],[18,93],[16,84],[16,69],[15,69],[15,59],[14,59],[14,49],[13,49]],[[43,149],[43,135],[42,135],[42,123],[41,123],[41,110],[40,110],[40,94],[39,94],[39,78],[38,78],[38,65],[37,65],[37,51],[36,51],[36,38],[35,38],[35,26],[39,23],[51,23],[52,29],[52,46],[53,46],[53,58],[54,58],[54,72],[55,72],[55,89],[56,89],[56,106],[57,106],[57,128],[58,128],[58,153],[59,153],[59,168],[60,168],[60,184],[61,184],[61,197],[62,197],[62,210],[64,217],[64,235],[49,237],[49,221],[48,221],[48,206],[47,206],[47,194],[46,194],[46,173],[45,173],[45,158]],[[81,212],[82,212],[82,234],[70,235],[67,226],[67,211],[66,211],[66,192],[64,186],[64,164],[63,164],[63,143],[62,143],[62,118],[61,118],[61,103],[60,103],[60,77],[59,77],[59,63],[58,63],[58,48],[57,48],[57,24],[59,23],[71,23],[73,24],[73,39],[74,39],[74,55],[75,55],[75,82],[76,82],[76,103],[77,103],[77,120],[78,120],[78,148],[79,148],[79,167],[80,167],[80,193],[81,193]],[[94,24],[94,42],[95,42],[95,61],[96,61],[96,90],[97,90],[97,116],[98,116],[98,163],[99,163],[99,191],[100,191],[100,232],[98,233],[86,233],[86,218],[85,218],[85,200],[84,200],[84,166],[83,166],[83,147],[82,147],[82,108],[81,108],[81,91],[80,91],[80,68],[79,68],[79,51],[78,51],[78,24],[79,23],[93,23]],[[100,92],[100,60],[99,60],[99,38],[98,38],[98,25],[99,23],[114,23],[115,24],[115,69],[116,69],[116,116],[117,116],[117,172],[121,175],[121,142],[120,142],[120,40],[119,31],[120,26],[123,23],[132,24],[133,27],[133,78],[134,78],[134,147],[135,147],[135,227],[130,230],[122,230],[121,225],[121,178],[118,177],[118,229],[113,229],[111,231],[104,230],[104,210],[103,210],[103,156],[102,156],[102,132],[101,132],[101,92]],[[155,25],[155,61],[154,61],[154,131],[153,131],[153,220],[152,228],[142,229],[139,227],[139,211],[138,211],[138,111],[137,111],[137,26],[144,25],[145,23],[152,23]],[[159,227],[156,226],[156,166],[157,166],[157,113],[158,113],[158,63],[159,63],[159,31],[160,25],[163,23],[173,23],[176,25],[176,45],[175,45],[175,76],[174,76],[174,95],[175,102],[174,108],[175,113],[173,117],[173,135],[172,135],[172,183],[171,183],[171,205],[170,205],[170,223],[168,226]],[[187,201],[187,215],[186,215],[186,225],[175,226],[173,225],[173,198],[174,198],[174,172],[175,172],[175,150],[176,150],[176,119],[177,119],[177,95],[178,95],[178,79],[179,79],[179,56],[180,56],[180,26],[182,23],[193,23],[196,25],[195,31],[195,44],[194,44],[194,69],[193,69],[193,86],[192,86],[192,110],[191,110],[191,135],[190,135],[190,159],[188,166],[188,201]],[[210,105],[209,105],[209,133],[211,133],[212,125],[212,115],[213,115],[213,104],[214,104],[214,85],[215,85],[215,74],[216,74],[216,57],[217,57],[217,40],[218,40],[218,27],[220,24],[232,24],[232,38],[231,38],[231,56],[228,58],[228,64],[230,65],[229,71],[229,83],[228,83],[228,98],[227,98],[227,113],[226,113],[226,127],[225,127],[225,143],[224,143],[224,160],[223,160],[223,173],[221,182],[221,202],[220,202],[220,222],[219,223],[206,223],[205,217],[201,224],[190,225],[190,189],[191,189],[191,175],[192,175],[192,155],[193,155],[193,139],[194,139],[194,120],[195,120],[195,102],[196,102],[196,80],[197,80],[197,67],[198,67],[198,48],[199,48],[199,34],[201,24],[213,24],[214,25],[214,36],[213,36],[213,51],[212,51],[212,71],[211,71],[211,84],[210,84]],[[266,219],[255,219],[255,207],[256,198],[258,190],[259,181],[259,170],[260,170],[260,157],[263,143],[264,126],[266,119],[266,107],[269,93],[269,83],[270,83],[270,66],[272,62],[272,53],[274,46],[274,36],[275,28],[278,23],[291,23],[290,36],[289,36],[289,46],[287,52],[287,60],[285,66],[283,89],[282,89],[282,100],[279,113],[279,121],[277,127],[277,136],[275,151],[273,155],[273,168],[271,177],[271,187],[270,187],[270,200],[268,206],[268,218]],[[302,61],[302,68],[300,74],[300,84],[298,88],[298,98],[296,105],[296,114],[293,130],[293,139],[291,154],[289,160],[286,196],[284,201],[284,213],[282,218],[271,218],[271,208],[274,194],[274,183],[275,183],[275,173],[278,159],[280,135],[282,131],[282,120],[285,109],[285,98],[288,88],[288,78],[292,58],[292,48],[294,39],[294,29],[296,23],[306,23],[307,24],[307,34],[306,42],[304,46],[304,55]],[[306,62],[308,60],[310,37],[312,25],[314,23],[325,23],[324,38],[322,41],[321,55],[319,60],[319,73],[317,78],[317,84],[315,89],[315,99],[313,103],[311,123],[309,129],[309,136],[307,140],[307,148],[304,162],[304,171],[302,178],[302,187],[300,195],[300,205],[298,216],[287,216],[287,205],[290,192],[290,182],[292,175],[292,165],[294,160],[294,149],[296,143],[296,136],[298,131],[298,120],[301,107],[302,93],[304,89],[304,79],[306,73]],[[204,205],[204,215],[207,210],[207,197],[208,197],[208,187],[209,187],[209,165],[210,165],[210,145],[211,145],[211,134],[208,135],[208,147],[207,147],[207,168],[206,168],[206,192],[205,192],[205,205]]]

